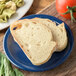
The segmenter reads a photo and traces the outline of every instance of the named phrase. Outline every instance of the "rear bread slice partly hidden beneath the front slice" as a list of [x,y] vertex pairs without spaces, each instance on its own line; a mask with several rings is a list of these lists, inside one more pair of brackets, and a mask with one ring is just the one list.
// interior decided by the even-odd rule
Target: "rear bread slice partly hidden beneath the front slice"
[[33,18],[32,21],[44,24],[51,29],[54,40],[57,42],[57,52],[62,51],[67,46],[67,33],[64,23],[56,26],[55,22],[52,22],[49,19],[42,18]]

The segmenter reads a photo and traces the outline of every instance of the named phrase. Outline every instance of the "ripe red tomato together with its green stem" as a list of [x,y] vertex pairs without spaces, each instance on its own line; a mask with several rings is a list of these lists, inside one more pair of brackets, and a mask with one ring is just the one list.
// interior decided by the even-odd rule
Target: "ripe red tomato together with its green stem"
[[76,22],[76,0],[56,0],[56,9],[62,17]]

